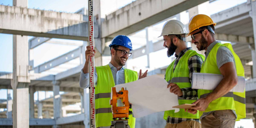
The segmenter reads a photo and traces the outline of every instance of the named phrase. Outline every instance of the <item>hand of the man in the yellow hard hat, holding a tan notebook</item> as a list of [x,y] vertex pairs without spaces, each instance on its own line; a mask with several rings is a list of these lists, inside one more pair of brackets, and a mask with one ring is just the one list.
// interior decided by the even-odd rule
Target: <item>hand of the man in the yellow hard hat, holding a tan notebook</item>
[[207,100],[206,98],[200,98],[197,101],[195,101],[194,103],[192,103],[196,106],[191,107],[191,109],[205,111],[208,108],[209,103],[210,103],[210,101]]

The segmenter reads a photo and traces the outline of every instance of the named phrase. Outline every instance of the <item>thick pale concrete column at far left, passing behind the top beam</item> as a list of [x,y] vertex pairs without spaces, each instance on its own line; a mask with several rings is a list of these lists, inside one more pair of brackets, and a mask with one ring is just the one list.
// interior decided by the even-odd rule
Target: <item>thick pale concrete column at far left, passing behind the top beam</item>
[[[28,0],[13,0],[27,8]],[[29,128],[29,49],[27,36],[13,35],[13,128]]]

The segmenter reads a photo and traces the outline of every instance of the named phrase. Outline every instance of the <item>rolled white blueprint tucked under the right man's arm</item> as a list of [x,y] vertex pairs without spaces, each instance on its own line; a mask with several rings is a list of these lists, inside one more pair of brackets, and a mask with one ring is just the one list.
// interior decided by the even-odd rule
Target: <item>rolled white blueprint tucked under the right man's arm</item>
[[[217,85],[221,82],[223,76],[220,74],[210,74],[210,73],[193,73],[192,76],[192,88],[193,89],[204,89],[204,90],[214,90]],[[244,92],[245,89],[245,79],[242,76],[238,76],[238,82],[230,92]]]

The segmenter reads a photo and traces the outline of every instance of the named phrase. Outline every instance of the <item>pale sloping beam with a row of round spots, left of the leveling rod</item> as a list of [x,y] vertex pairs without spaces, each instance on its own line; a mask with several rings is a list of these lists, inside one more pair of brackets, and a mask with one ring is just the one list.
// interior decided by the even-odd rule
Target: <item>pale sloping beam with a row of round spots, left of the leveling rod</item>
[[41,73],[41,72],[49,70],[53,67],[56,67],[60,64],[63,64],[70,60],[73,60],[74,58],[80,57],[81,51],[82,51],[82,47],[74,49],[70,52],[67,52],[67,53],[57,57],[57,58],[47,61],[44,64],[38,65],[37,67],[34,68],[34,71],[35,71],[35,73]]

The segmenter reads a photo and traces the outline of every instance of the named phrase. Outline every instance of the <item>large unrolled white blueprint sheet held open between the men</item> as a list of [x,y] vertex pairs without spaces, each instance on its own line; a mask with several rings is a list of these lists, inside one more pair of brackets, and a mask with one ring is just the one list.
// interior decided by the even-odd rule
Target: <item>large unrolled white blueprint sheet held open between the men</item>
[[160,111],[175,110],[178,105],[177,95],[170,93],[168,83],[160,76],[147,76],[126,84],[116,85],[116,91],[122,87],[128,90],[128,99],[132,104],[134,117],[139,118]]

